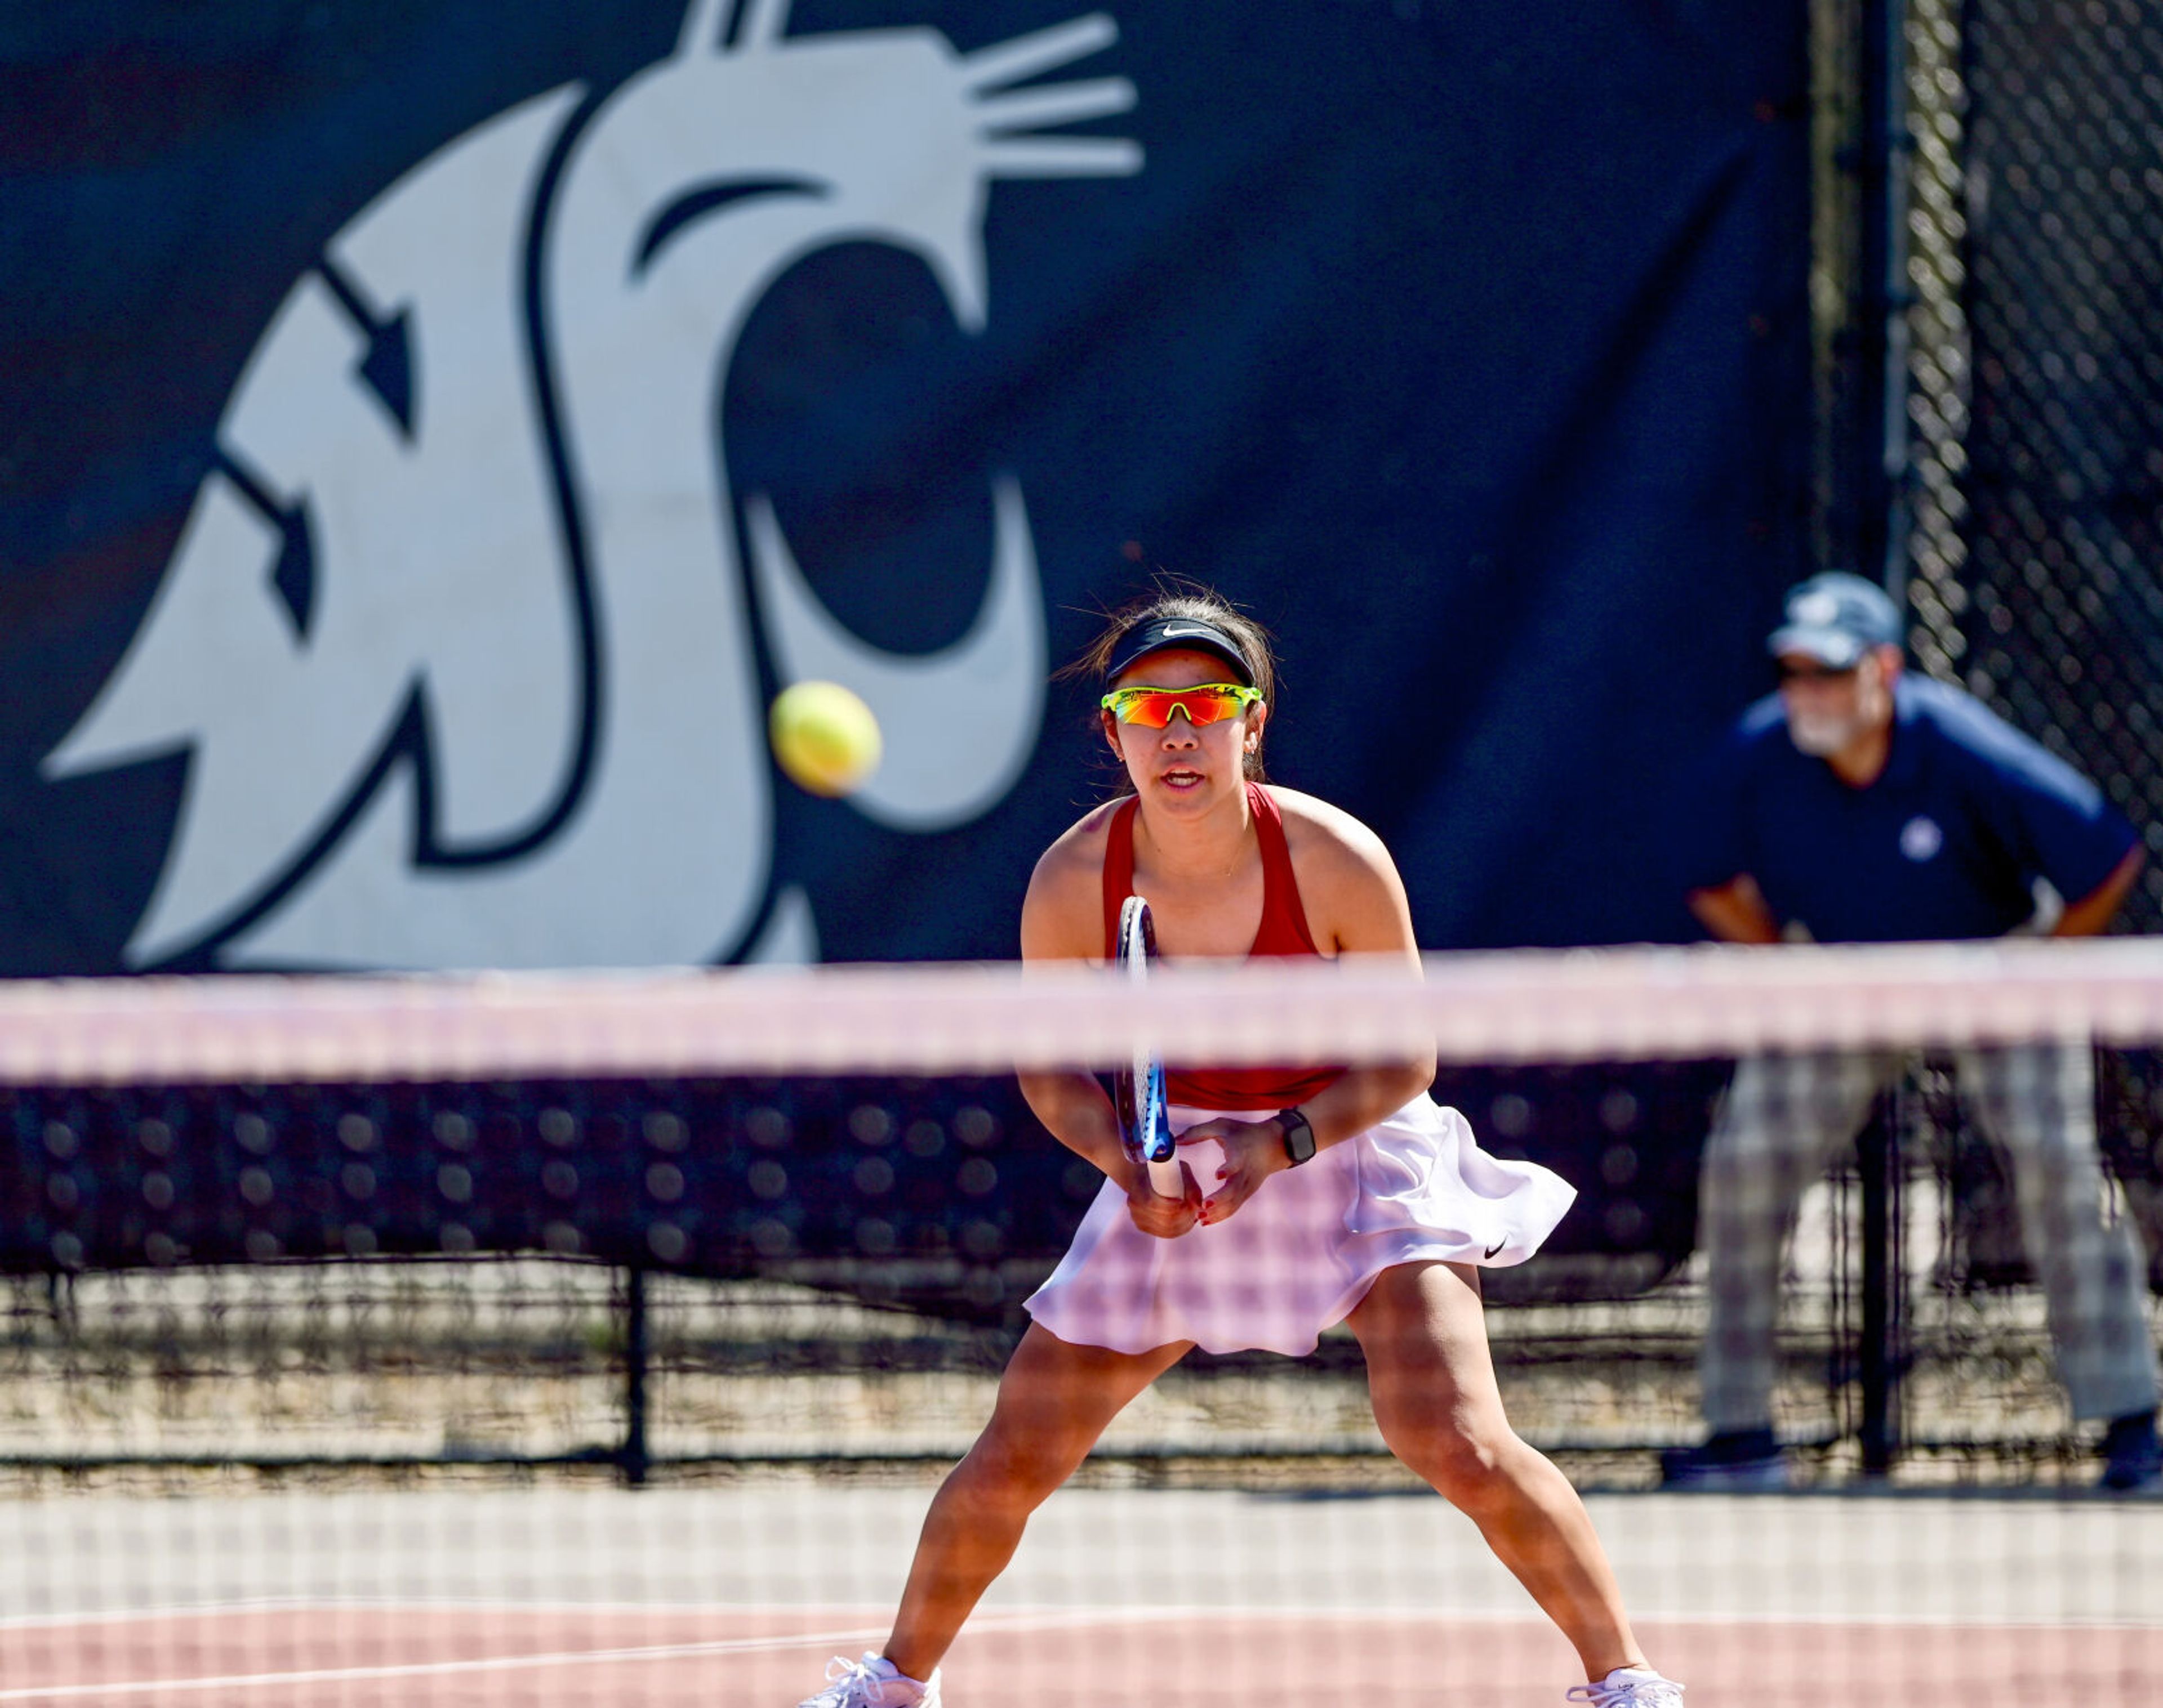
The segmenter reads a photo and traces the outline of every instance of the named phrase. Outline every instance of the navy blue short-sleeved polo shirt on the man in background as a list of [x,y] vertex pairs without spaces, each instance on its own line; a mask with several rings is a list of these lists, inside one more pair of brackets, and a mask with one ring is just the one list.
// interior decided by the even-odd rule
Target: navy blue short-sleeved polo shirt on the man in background
[[1735,726],[1704,802],[1691,889],[1750,873],[1774,917],[1819,943],[2003,936],[2044,878],[2089,895],[2137,841],[2102,791],[1981,700],[1893,685],[1893,752],[1867,789],[1800,752],[1780,696]]

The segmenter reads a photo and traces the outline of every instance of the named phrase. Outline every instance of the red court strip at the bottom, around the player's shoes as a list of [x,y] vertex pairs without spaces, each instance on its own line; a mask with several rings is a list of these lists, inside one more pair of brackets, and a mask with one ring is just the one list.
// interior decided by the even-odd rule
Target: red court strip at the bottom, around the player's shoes
[[[792,1708],[874,1609],[268,1606],[15,1622],[0,1704],[67,1708]],[[1655,1624],[1689,1708],[2133,1708],[2163,1699],[2163,1628]],[[1432,1708],[1562,1702],[1570,1654],[1531,1619],[1207,1609],[984,1613],[947,1708]]]

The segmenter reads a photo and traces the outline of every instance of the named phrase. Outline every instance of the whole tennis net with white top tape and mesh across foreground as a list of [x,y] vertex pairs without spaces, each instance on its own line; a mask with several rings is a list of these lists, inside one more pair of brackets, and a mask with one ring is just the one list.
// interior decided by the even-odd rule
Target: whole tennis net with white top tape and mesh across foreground
[[[1577,1187],[1488,1338],[1691,1702],[2152,1699],[2163,1500],[2098,1490],[2163,1250],[2128,938],[0,988],[0,1704],[811,1695],[1099,1189],[1014,1070],[1138,1040],[1434,1049]],[[1577,1676],[1337,1325],[1131,1403],[947,1702]]]

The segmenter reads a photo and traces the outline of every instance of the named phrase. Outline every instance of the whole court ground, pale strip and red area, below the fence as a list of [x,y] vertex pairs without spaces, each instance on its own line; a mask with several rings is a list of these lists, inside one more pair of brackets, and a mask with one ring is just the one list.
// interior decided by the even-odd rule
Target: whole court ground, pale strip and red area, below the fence
[[[4,1702],[787,1704],[885,1634],[928,1490],[119,1498],[9,1511]],[[2152,1702],[2163,1503],[1594,1496],[1709,1704]],[[965,1704],[1553,1704],[1570,1654],[1441,1500],[1069,1490]]]

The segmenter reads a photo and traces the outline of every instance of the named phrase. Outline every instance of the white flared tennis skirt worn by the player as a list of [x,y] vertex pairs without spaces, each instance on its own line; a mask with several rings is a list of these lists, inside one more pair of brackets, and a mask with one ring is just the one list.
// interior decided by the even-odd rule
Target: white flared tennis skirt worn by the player
[[[1268,1120],[1276,1111],[1175,1107],[1172,1131],[1226,1113]],[[1181,1139],[1179,1159],[1207,1196],[1222,1146]],[[1358,1137],[1272,1174],[1229,1222],[1179,1239],[1136,1228],[1127,1193],[1105,1180],[1027,1308],[1082,1347],[1138,1353],[1192,1340],[1203,1351],[1298,1358],[1384,1269],[1523,1263],[1575,1198],[1568,1180],[1538,1163],[1488,1157],[1464,1116],[1419,1094]]]

